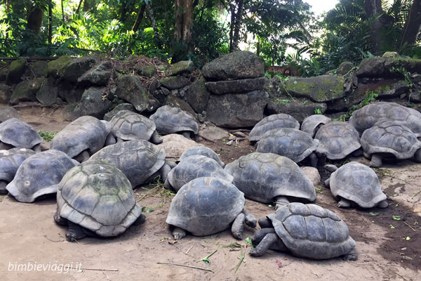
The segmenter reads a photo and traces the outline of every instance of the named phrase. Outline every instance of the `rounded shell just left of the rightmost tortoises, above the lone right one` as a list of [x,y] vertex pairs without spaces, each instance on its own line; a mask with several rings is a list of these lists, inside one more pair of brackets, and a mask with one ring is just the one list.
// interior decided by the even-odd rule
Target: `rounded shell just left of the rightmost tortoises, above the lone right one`
[[324,124],[314,138],[320,142],[317,151],[325,153],[328,159],[342,159],[361,148],[358,131],[347,122]]

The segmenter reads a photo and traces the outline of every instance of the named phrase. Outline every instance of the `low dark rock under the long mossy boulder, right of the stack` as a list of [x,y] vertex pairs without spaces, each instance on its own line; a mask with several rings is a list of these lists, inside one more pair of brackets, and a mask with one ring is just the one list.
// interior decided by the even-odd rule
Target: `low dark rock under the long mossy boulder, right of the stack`
[[279,114],[286,113],[291,115],[298,122],[302,122],[306,117],[316,114],[316,111],[323,113],[328,109],[326,103],[314,103],[310,100],[288,100],[288,102],[283,102],[283,100],[272,99],[267,104],[267,112],[269,114]]

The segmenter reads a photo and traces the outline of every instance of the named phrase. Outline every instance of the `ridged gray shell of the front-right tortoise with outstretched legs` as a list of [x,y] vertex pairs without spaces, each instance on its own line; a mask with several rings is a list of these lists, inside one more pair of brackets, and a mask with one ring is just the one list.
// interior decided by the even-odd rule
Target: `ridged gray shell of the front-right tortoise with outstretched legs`
[[355,247],[346,223],[333,211],[316,204],[290,203],[267,217],[295,256],[331,259]]

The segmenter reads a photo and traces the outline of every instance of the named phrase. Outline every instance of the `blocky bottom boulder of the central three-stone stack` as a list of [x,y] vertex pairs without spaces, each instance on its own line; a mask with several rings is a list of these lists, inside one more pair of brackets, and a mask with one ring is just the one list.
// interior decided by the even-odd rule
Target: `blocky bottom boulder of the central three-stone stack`
[[254,126],[263,119],[268,98],[265,91],[210,95],[206,108],[208,119],[222,127]]

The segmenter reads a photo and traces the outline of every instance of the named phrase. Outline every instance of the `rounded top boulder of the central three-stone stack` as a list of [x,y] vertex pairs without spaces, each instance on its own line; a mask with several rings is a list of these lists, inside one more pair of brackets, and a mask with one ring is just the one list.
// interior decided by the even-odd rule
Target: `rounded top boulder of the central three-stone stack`
[[236,51],[204,65],[202,74],[213,81],[257,78],[265,75],[265,65],[255,53]]

